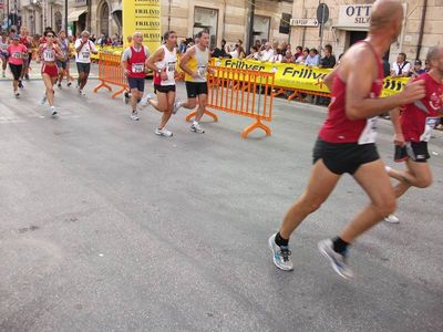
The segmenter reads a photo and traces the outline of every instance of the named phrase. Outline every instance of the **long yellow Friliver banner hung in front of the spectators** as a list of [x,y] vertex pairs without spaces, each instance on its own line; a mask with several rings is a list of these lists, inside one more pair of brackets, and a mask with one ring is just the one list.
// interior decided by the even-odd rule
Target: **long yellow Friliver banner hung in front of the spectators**
[[[275,73],[275,86],[288,90],[305,90],[312,92],[329,93],[324,85],[324,76],[331,72],[330,69],[310,68],[303,64],[270,63],[255,60],[217,59],[216,66],[233,68],[240,70],[253,70]],[[382,96],[399,93],[409,79],[387,77],[383,81]]]

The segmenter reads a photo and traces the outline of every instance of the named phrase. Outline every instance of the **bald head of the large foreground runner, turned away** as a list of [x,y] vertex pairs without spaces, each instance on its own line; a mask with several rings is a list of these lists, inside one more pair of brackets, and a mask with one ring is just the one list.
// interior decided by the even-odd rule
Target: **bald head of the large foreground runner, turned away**
[[403,7],[396,0],[377,0],[371,11],[370,34],[385,35],[396,41],[403,22]]

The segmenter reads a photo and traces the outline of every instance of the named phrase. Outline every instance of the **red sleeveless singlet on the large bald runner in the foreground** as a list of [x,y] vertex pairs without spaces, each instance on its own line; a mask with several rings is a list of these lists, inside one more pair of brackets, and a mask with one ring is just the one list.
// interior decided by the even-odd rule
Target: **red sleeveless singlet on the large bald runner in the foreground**
[[[379,75],[373,82],[370,97],[378,97],[383,89],[383,63],[377,55],[374,49],[369,42],[367,43],[373,52],[377,63],[379,64]],[[374,122],[367,118],[351,121],[346,114],[346,90],[347,84],[336,74],[332,82],[331,104],[329,105],[328,118],[320,129],[319,136],[328,143],[373,143],[373,139],[362,137],[363,133],[368,134],[375,126]]]

